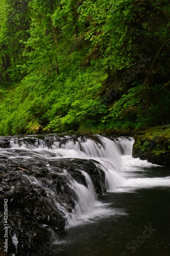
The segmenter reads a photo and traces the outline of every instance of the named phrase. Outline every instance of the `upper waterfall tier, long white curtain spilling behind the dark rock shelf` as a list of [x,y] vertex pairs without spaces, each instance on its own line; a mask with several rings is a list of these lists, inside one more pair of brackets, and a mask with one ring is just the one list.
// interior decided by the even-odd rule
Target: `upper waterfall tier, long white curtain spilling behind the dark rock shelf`
[[132,155],[133,138],[109,139],[94,136],[94,139],[84,136],[47,137],[43,139],[23,138],[10,141],[11,148],[22,148],[40,158],[61,159],[93,159],[100,164],[106,175],[108,190],[114,190],[125,183],[122,176],[123,155]]

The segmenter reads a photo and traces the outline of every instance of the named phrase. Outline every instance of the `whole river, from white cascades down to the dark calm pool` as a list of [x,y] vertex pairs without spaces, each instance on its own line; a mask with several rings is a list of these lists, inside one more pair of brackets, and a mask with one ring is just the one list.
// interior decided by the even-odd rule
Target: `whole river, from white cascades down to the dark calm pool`
[[[45,217],[41,221],[39,218],[35,225],[51,228],[53,239],[42,245],[34,242],[35,252],[29,248],[27,254],[28,245],[20,250],[19,246],[24,247],[23,238],[15,231],[18,226],[9,218],[9,224],[13,225],[9,234],[12,236],[9,255],[170,255],[169,169],[132,158],[133,143],[133,138],[100,135],[1,138],[1,167],[8,164],[15,168],[20,182],[8,181],[13,189],[11,196],[2,180],[2,191],[11,200],[16,218],[18,212],[24,218],[28,216],[28,201],[19,198],[19,203],[12,204],[18,195],[18,184],[22,184],[22,188],[28,186],[39,193],[40,201],[48,201],[48,210],[51,208],[51,213],[56,210],[65,221],[64,235],[60,237],[55,235],[55,223],[50,225],[53,221],[48,223]],[[2,175],[5,175],[3,168]],[[43,177],[42,172],[46,176]],[[53,181],[62,180],[60,189],[54,188],[50,175]],[[71,199],[66,194],[71,195]],[[36,208],[35,205],[33,203],[31,208]],[[11,212],[14,209],[11,206]],[[33,212],[35,219],[37,214]],[[34,227],[30,226],[29,232],[32,229]],[[26,230],[25,233],[26,237],[30,236]]]

